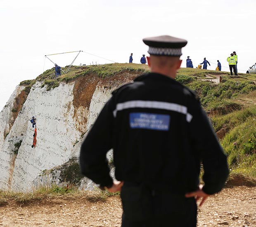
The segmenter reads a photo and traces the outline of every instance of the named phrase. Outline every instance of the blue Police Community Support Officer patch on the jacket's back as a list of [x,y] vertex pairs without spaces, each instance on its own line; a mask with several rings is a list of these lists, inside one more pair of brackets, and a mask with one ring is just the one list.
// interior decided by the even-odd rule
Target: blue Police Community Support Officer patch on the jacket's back
[[170,115],[163,114],[130,113],[130,128],[168,131],[170,118]]

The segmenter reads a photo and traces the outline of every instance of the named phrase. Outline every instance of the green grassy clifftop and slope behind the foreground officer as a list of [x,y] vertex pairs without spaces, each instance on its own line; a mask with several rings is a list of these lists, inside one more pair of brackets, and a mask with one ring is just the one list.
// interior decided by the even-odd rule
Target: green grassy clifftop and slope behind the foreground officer
[[[63,68],[65,70],[66,68]],[[139,64],[106,64],[100,66],[72,66],[68,73],[54,79],[54,68],[46,70],[35,80],[20,83],[29,93],[36,81],[42,87],[54,89],[59,83],[69,82],[76,77],[95,74],[111,77],[117,73],[149,72],[148,66]],[[219,83],[219,77],[222,82]],[[220,143],[228,155],[232,173],[256,177],[256,75],[181,68],[176,80],[194,90],[203,108],[209,115]]]

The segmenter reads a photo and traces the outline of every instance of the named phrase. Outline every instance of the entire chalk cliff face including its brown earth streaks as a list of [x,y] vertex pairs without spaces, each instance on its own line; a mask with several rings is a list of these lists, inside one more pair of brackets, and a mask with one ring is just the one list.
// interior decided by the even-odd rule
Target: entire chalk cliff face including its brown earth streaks
[[[80,174],[77,158],[90,126],[111,92],[137,75],[121,72],[105,79],[82,75],[50,90],[37,81],[28,94],[24,86],[17,86],[0,112],[0,189],[31,191],[38,185],[74,180]],[[37,126],[34,148],[32,116]],[[70,171],[75,175],[68,176]],[[80,178],[74,183],[92,188],[90,180]]]

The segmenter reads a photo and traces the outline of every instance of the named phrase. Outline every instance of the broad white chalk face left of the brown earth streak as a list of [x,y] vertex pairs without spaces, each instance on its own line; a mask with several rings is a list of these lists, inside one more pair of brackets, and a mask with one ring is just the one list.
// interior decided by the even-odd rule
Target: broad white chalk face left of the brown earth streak
[[[40,83],[32,87],[1,148],[4,160],[4,164],[0,164],[2,188],[31,190],[32,180],[41,171],[69,159],[73,144],[81,136],[72,117],[72,89],[73,84],[60,84],[51,91],[41,88]],[[37,119],[34,148],[31,147],[34,133],[30,122],[32,116]],[[17,140],[22,140],[22,143],[15,157],[12,148]]]

